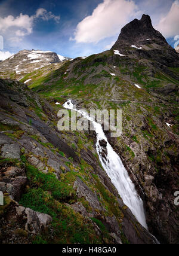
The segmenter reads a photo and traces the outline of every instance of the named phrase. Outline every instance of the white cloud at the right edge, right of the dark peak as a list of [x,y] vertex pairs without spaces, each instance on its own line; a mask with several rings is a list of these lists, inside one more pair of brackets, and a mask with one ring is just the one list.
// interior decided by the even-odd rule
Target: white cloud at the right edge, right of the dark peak
[[162,17],[156,29],[166,38],[179,34],[179,1],[175,1],[168,14]]

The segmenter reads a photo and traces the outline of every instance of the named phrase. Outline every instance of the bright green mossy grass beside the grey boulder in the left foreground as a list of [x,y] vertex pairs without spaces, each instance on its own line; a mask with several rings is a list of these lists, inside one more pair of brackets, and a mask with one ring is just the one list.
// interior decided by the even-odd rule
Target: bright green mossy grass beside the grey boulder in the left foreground
[[[42,173],[33,166],[26,163],[27,178],[30,188],[23,194],[20,205],[33,211],[49,214],[53,217],[50,229],[46,229],[40,236],[33,239],[33,243],[102,243],[102,236],[98,236],[90,221],[82,215],[66,206],[64,202],[75,202],[76,192],[69,186],[72,179],[72,172],[63,174],[69,175],[67,180],[58,181],[51,173]],[[66,176],[67,177],[67,176]],[[53,236],[51,232],[53,230]],[[104,237],[109,239],[105,232]]]

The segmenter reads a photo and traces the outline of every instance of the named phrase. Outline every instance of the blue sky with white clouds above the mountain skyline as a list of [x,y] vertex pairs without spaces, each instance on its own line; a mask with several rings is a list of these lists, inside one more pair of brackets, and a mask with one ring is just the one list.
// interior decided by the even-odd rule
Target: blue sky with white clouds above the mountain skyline
[[143,13],[174,47],[178,0],[0,0],[0,58],[32,48],[73,58],[99,53],[112,46],[126,23]]

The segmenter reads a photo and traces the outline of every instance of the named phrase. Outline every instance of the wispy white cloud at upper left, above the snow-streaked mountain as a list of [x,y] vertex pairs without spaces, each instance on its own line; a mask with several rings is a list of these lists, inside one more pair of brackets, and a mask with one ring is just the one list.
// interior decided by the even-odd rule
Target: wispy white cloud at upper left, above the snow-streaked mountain
[[32,16],[20,13],[17,17],[12,15],[0,17],[0,33],[11,43],[19,42],[24,36],[33,32],[33,25],[38,19],[54,20],[58,23],[60,16],[55,16],[51,11],[48,12],[44,8],[39,8]]

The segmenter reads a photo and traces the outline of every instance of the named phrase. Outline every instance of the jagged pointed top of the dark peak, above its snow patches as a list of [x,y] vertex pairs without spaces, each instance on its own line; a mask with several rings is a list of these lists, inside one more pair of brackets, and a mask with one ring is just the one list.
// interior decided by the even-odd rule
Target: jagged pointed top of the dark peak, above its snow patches
[[150,16],[143,14],[140,20],[134,19],[121,29],[121,33],[115,45],[113,45],[112,50],[118,49],[122,47],[122,45],[141,47],[141,45],[146,44],[147,41],[167,44],[162,34],[153,28]]

